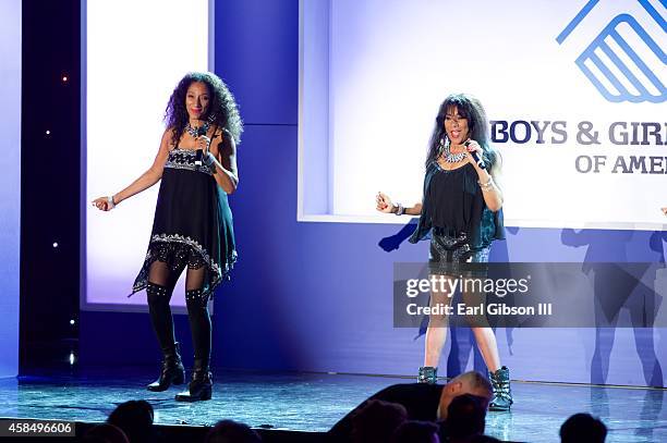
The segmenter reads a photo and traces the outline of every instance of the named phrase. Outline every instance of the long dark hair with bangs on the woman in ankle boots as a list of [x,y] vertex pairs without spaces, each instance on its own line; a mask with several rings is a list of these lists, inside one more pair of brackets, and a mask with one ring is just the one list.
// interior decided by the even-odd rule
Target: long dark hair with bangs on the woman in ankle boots
[[466,94],[452,94],[445,98],[436,116],[435,127],[428,143],[426,168],[435,161],[441,152],[440,140],[447,136],[445,133],[445,115],[451,108],[457,108],[459,115],[468,120],[468,136],[477,141],[484,151],[482,158],[490,170],[498,160],[498,151],[488,144],[488,121],[482,103]]

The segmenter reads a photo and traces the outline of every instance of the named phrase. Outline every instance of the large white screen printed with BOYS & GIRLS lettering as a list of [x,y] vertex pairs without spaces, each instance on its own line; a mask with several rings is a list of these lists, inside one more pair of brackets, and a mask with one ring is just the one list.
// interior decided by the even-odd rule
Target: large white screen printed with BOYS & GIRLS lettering
[[[611,61],[614,54],[601,49],[595,54],[610,71],[594,71],[594,75],[607,89],[614,89],[614,79],[626,85],[638,102],[607,99],[575,60],[609,25],[657,82],[667,84],[665,59],[658,57],[667,48],[665,30],[658,23],[662,20],[664,24],[666,10],[659,1],[644,2],[655,10],[656,21],[635,0],[603,0],[574,23],[559,44],[557,37],[586,3],[330,1],[330,213],[347,221],[388,221],[386,216],[375,214],[374,195],[380,189],[398,201],[419,201],[426,145],[438,106],[446,95],[464,91],[481,99],[489,120],[508,124],[536,121],[541,127],[545,122],[563,122],[565,143],[559,143],[561,135],[547,128],[544,144],[536,143],[534,131],[524,144],[494,144],[505,159],[507,224],[664,229],[667,220],[659,211],[667,206],[664,86],[656,87],[653,77],[643,75],[611,37],[604,41],[619,57],[621,66],[638,77],[634,84],[641,83],[646,93],[642,96],[623,67]],[[635,20],[663,49],[656,54],[641,29],[638,33],[628,23],[620,21],[613,26],[620,14]],[[307,63],[305,60],[306,67]],[[592,66],[590,60],[586,65]],[[307,90],[302,94],[307,95]],[[578,125],[584,121],[598,132],[597,144],[578,140]],[[659,140],[652,136],[647,145],[616,145],[608,134],[614,122],[627,122],[630,133],[630,122],[657,123]],[[523,135],[518,131],[516,138]],[[616,136],[622,143],[621,134]],[[579,172],[580,156],[605,156],[606,165],[597,173]],[[644,157],[647,172],[650,156],[659,157],[654,160],[654,170],[659,172],[620,173],[622,168],[617,168],[614,173],[619,156],[628,163],[630,156]],[[580,161],[583,169],[587,159]]]

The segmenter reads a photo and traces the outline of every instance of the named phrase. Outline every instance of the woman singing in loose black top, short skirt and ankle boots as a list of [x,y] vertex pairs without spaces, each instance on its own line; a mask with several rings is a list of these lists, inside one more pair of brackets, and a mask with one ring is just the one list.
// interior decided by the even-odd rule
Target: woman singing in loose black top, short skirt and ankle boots
[[[447,97],[430,137],[422,201],[403,207],[383,193],[377,195],[378,211],[420,216],[410,242],[430,233],[430,263],[447,268],[456,262],[486,262],[493,241],[505,238],[501,160],[488,143],[487,131],[484,108],[477,99],[464,94]],[[449,304],[452,295],[432,292],[430,305]],[[512,404],[509,370],[500,367],[496,336],[490,328],[472,327],[472,331],[490,371],[494,397],[489,408],[507,410]],[[436,382],[446,337],[444,317],[432,315],[420,382]]]

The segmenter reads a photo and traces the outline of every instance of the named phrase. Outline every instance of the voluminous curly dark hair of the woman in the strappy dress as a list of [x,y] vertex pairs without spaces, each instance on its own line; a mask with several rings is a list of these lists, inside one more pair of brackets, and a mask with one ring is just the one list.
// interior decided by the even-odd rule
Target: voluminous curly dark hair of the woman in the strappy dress
[[194,82],[205,83],[210,94],[210,104],[204,118],[208,119],[210,115],[214,115],[211,123],[225,128],[237,144],[241,143],[243,122],[241,121],[241,115],[239,115],[239,107],[234,96],[225,82],[211,72],[191,72],[185,74],[173,89],[173,93],[171,93],[167,110],[165,111],[165,122],[167,127],[171,128],[171,141],[177,145],[187,125],[189,115],[185,108],[185,95],[187,94],[187,88]]

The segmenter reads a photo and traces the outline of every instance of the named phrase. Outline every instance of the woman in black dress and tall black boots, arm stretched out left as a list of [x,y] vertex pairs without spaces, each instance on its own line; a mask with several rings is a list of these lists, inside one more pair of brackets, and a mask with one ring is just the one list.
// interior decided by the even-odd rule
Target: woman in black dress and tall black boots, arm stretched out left
[[132,288],[146,290],[150,320],[163,361],[149,391],[184,382],[169,300],[185,275],[185,302],[194,346],[192,381],[175,399],[209,399],[211,324],[208,302],[237,259],[227,196],[237,189],[237,144],[243,131],[237,103],[213,73],[191,73],[179,82],[165,116],[167,130],[153,165],[118,194],[93,205],[109,211],[161,179],[146,259]]

